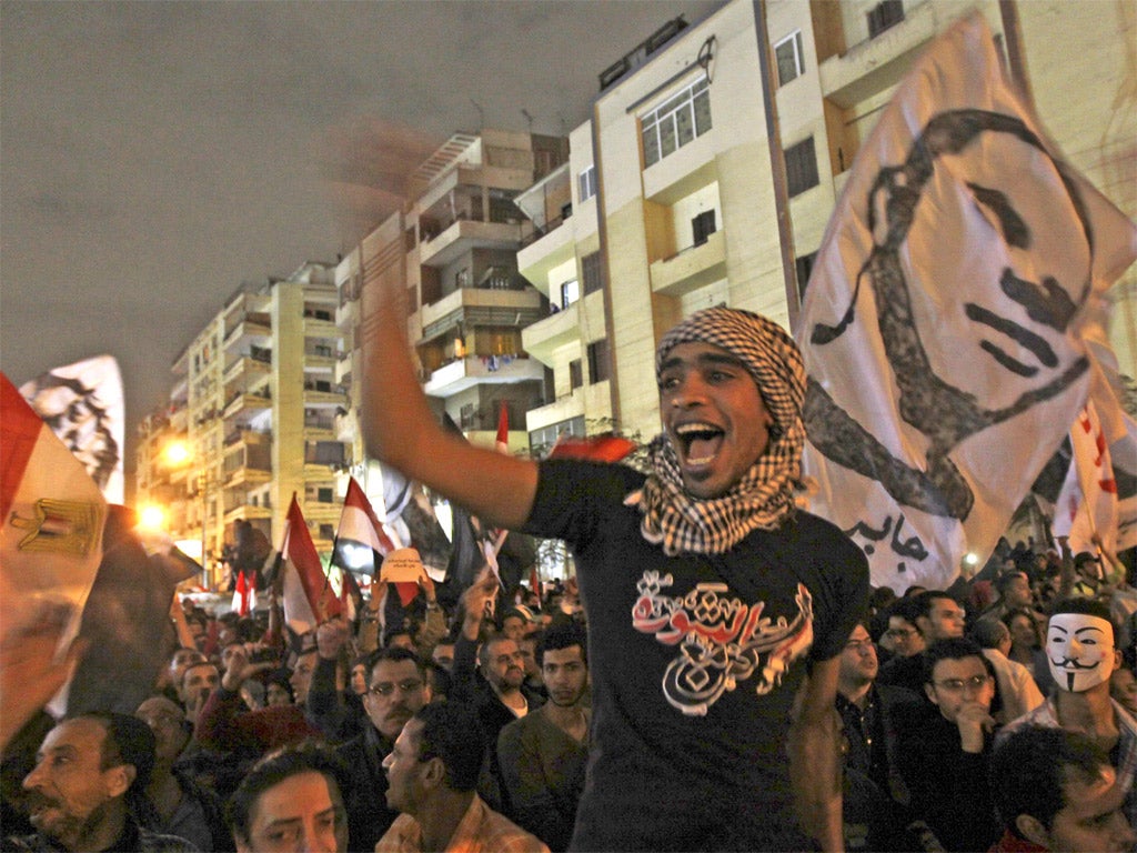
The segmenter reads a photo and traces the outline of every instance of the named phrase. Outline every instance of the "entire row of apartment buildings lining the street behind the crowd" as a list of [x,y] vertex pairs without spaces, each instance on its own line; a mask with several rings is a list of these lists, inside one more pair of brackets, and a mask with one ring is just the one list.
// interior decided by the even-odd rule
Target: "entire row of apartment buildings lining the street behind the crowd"
[[[456,133],[334,267],[234,293],[175,365],[171,412],[143,424],[151,444],[183,431],[194,467],[164,482],[144,441],[139,471],[185,490],[182,529],[200,535],[204,516],[213,553],[241,519],[279,544],[292,490],[330,547],[346,477],[379,490],[357,417],[362,306],[380,285],[405,291],[423,388],[471,440],[492,444],[503,404],[514,450],[613,428],[652,437],[659,336],[719,303],[790,325],[875,117],[973,9],[1069,160],[1137,215],[1131,7],[732,0],[661,22],[600,69],[567,140]],[[1110,296],[1134,375],[1137,273]]]

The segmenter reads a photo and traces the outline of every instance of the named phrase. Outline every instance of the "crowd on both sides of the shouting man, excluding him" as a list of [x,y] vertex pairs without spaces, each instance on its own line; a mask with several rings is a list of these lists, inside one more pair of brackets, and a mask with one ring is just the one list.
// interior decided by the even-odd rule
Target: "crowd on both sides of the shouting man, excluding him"
[[[1113,568],[1001,546],[951,591],[873,591],[838,656],[847,850],[1134,848],[1137,590]],[[575,585],[507,601],[485,571],[449,613],[433,591],[383,632],[368,610],[291,641],[275,603],[175,602],[186,645],[133,715],[13,738],[3,848],[567,850],[594,704]]]

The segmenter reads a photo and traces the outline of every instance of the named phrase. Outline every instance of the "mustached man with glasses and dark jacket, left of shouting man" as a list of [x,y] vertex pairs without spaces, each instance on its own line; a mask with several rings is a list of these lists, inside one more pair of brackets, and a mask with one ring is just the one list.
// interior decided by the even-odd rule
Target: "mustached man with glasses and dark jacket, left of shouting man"
[[399,817],[387,805],[383,760],[407,721],[430,702],[425,668],[410,649],[395,646],[373,653],[367,673],[363,706],[371,724],[337,750],[350,775],[345,792],[350,850],[374,848]]

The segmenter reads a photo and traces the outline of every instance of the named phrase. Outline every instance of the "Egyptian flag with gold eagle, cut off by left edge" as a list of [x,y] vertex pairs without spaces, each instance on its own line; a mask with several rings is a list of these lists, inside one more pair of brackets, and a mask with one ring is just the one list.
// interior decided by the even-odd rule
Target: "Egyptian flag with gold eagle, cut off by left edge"
[[[16,387],[0,373],[0,608],[6,627],[33,598],[64,599],[76,614],[102,557],[107,504]],[[163,605],[169,607],[167,601]],[[165,611],[164,611],[165,612]]]

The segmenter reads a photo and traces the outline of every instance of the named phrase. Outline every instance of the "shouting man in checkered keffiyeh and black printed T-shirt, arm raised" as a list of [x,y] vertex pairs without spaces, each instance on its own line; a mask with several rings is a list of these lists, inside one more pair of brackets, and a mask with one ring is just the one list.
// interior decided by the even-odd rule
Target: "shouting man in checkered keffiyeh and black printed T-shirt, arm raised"
[[570,848],[800,850],[810,836],[839,848],[833,702],[868,565],[795,506],[805,372],[792,339],[721,307],[666,333],[655,362],[664,433],[645,475],[447,434],[408,357],[400,295],[375,292],[377,310],[364,307],[368,454],[487,523],[573,552],[594,718]]

